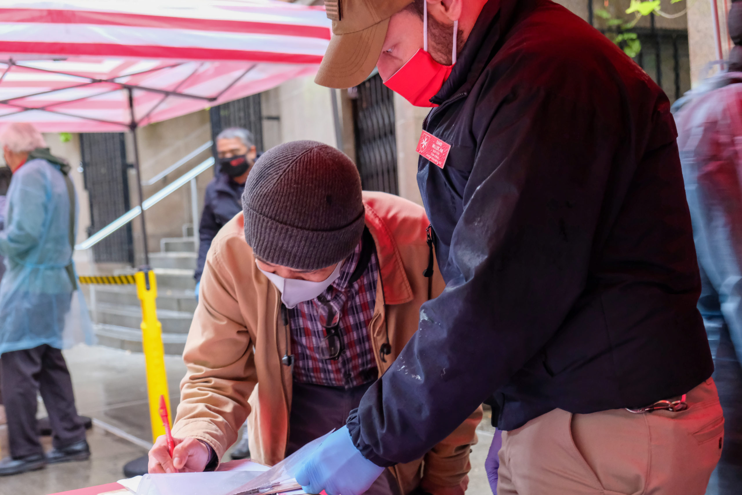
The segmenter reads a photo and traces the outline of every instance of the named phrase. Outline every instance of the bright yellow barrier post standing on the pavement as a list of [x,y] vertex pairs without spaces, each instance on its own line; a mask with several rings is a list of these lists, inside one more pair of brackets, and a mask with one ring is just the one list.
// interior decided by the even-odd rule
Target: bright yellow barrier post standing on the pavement
[[142,271],[134,275],[137,281],[137,296],[142,303],[142,350],[144,350],[147,367],[147,395],[149,398],[149,418],[152,424],[152,442],[165,434],[165,427],[160,419],[160,396],[165,397],[170,412],[170,395],[168,394],[168,375],[165,373],[165,346],[162,345],[162,325],[157,320],[157,279],[154,272]]

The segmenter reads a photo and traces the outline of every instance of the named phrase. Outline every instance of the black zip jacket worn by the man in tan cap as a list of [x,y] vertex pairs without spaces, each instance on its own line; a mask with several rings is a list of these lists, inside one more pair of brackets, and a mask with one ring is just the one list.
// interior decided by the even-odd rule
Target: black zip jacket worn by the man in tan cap
[[711,376],[669,100],[548,0],[490,0],[418,164],[447,288],[349,418],[378,465],[417,459],[492,393],[498,426],[686,393]]

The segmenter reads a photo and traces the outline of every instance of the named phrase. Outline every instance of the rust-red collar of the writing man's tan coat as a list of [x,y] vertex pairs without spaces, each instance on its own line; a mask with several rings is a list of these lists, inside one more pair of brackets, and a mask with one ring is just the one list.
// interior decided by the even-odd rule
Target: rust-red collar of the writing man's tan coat
[[[389,226],[364,198],[366,226],[376,244],[379,277],[384,291],[384,304],[404,304],[413,300],[413,289],[407,278],[397,242]],[[377,289],[378,290],[378,289]]]

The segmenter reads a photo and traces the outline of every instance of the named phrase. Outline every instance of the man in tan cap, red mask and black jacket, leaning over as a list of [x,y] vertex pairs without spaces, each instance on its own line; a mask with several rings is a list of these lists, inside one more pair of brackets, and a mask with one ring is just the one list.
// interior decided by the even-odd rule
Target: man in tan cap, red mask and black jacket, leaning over
[[494,394],[501,495],[703,494],[723,416],[663,91],[548,0],[326,10],[320,84],[378,65],[435,107],[418,185],[447,288],[298,482],[361,494]]

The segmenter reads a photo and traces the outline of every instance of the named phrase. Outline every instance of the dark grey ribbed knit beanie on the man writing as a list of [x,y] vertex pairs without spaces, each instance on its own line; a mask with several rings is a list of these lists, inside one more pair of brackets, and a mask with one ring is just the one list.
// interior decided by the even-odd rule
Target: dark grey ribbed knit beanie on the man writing
[[358,169],[344,153],[316,141],[266,151],[247,176],[242,209],[255,255],[293,269],[344,260],[364,231]]

